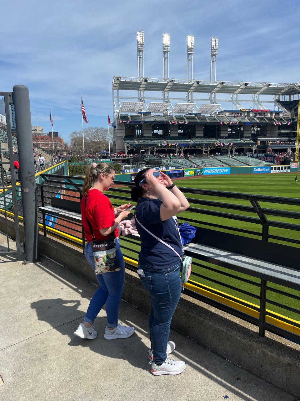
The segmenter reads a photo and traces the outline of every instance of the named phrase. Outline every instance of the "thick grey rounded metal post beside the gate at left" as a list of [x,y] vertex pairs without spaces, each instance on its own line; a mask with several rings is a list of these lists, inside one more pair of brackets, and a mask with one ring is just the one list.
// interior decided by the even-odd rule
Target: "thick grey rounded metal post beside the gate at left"
[[26,262],[32,263],[40,258],[40,249],[28,88],[24,85],[15,85],[12,89],[12,98],[20,163]]

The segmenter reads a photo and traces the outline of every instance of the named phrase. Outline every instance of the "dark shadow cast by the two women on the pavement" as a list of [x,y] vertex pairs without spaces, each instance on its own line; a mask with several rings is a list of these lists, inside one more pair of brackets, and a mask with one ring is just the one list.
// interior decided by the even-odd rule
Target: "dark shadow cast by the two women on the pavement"
[[[118,338],[116,340],[106,340],[104,338],[103,335],[107,325],[106,316],[95,319],[94,326],[98,335],[94,340],[84,340],[75,336],[74,331],[85,315],[84,312],[78,309],[79,306],[80,300],[63,300],[62,298],[42,299],[31,304],[31,308],[36,310],[38,320],[47,322],[60,334],[69,336],[69,346],[88,347],[98,354],[127,360],[134,367],[143,370],[149,369],[147,365],[149,348],[141,341],[137,331],[129,338]],[[125,316],[127,314],[128,316],[126,312],[129,313],[130,308],[123,303],[120,307],[120,315]],[[120,320],[122,320],[122,317]],[[144,319],[143,322],[138,322],[138,324],[139,326],[145,324]],[[148,327],[142,327],[142,329],[148,332]]]

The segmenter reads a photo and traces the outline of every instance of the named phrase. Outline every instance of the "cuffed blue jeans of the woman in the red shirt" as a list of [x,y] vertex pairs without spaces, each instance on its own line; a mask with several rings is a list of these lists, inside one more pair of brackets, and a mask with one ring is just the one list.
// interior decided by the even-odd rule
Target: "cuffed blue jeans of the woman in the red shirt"
[[[99,288],[93,295],[84,322],[93,324],[96,316],[106,303],[106,316],[108,327],[118,326],[118,313],[121,302],[121,296],[124,288],[125,280],[125,263],[124,257],[120,250],[120,241],[116,238],[116,251],[121,270],[110,271],[104,274],[96,274],[99,283]],[[86,260],[95,271],[94,255],[92,245],[87,242],[84,248]]]

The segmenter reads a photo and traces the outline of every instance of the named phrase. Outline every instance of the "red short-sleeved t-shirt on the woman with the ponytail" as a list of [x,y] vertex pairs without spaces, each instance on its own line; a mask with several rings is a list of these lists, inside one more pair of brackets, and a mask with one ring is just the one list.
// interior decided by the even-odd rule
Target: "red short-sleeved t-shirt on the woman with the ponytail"
[[[92,230],[95,236],[95,239],[108,239],[110,235],[102,235],[99,230],[112,227],[114,225],[114,208],[110,203],[110,200],[107,196],[105,196],[98,189],[90,189],[86,198],[85,205],[85,196],[81,201],[81,223],[84,229],[84,235],[86,237],[86,241],[92,241],[92,234],[90,232],[90,228],[88,226],[88,222],[86,217],[88,217],[88,221],[92,225]],[[119,235],[119,230],[115,229],[114,235],[117,238]]]

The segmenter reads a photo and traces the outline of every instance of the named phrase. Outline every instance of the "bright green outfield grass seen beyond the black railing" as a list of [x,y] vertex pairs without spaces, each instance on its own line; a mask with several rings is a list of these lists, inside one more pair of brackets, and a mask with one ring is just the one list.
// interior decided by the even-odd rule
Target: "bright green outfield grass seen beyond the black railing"
[[[270,195],[270,196],[282,196],[286,198],[300,198],[300,180],[297,184],[295,184],[295,175],[292,173],[285,173],[285,174],[252,174],[252,175],[228,175],[228,176],[200,176],[200,177],[195,177],[195,178],[186,178],[186,179],[181,179],[179,181],[174,180],[175,184],[181,187],[187,187],[187,188],[201,188],[201,189],[210,189],[210,190],[220,190],[220,191],[229,191],[229,192],[243,192],[243,193],[249,193],[249,194],[262,194],[262,195]],[[300,178],[300,174],[299,174]],[[108,196],[111,195],[112,192],[108,192]],[[122,194],[124,196],[124,194]],[[215,216],[209,216],[205,213],[206,209],[214,210],[214,211],[222,211],[222,212],[228,212],[232,214],[239,214],[239,215],[247,215],[251,217],[257,217],[256,213],[244,213],[240,211],[234,211],[232,209],[228,210],[225,209],[224,207],[211,207],[211,206],[202,206],[202,205],[196,205],[192,202],[193,198],[198,198],[198,199],[207,199],[210,201],[220,201],[223,203],[232,203],[232,204],[238,204],[238,205],[250,205],[249,201],[241,201],[241,200],[234,200],[230,198],[222,198],[222,196],[204,196],[204,195],[194,195],[194,194],[187,194],[189,198],[191,198],[190,205],[192,207],[197,207],[202,209],[202,213],[194,213],[194,212],[184,212],[180,215],[178,215],[178,218],[180,221],[186,221],[188,219],[194,219],[197,220],[198,223],[193,223],[193,225],[198,225],[200,227],[207,227],[209,229],[214,229],[213,227],[208,227],[206,223],[215,223],[219,225],[224,225],[227,226],[227,229],[222,229],[222,231],[229,232],[229,233],[234,233],[236,235],[245,235],[248,237],[253,237],[256,239],[261,239],[260,236],[258,235],[246,235],[244,233],[236,233],[232,230],[230,230],[230,227],[236,227],[236,228],[242,228],[242,229],[247,229],[254,231],[254,233],[261,233],[261,226],[253,223],[247,223],[244,221],[236,221],[233,219],[225,219],[222,217],[215,217]],[[121,204],[119,200],[111,198],[112,203],[114,204]],[[281,209],[281,210],[286,210],[286,211],[300,211],[299,207],[293,206],[293,205],[279,205],[279,204],[274,204],[274,203],[260,203],[262,207],[268,207],[271,209]],[[267,216],[269,220],[274,220],[274,221],[285,221],[289,223],[294,223],[294,224],[300,224],[300,221],[298,219],[286,219],[283,217],[274,217],[274,216]],[[215,228],[216,230],[216,244],[218,244],[218,231],[220,229]],[[300,234],[298,231],[292,231],[292,230],[286,230],[286,229],[278,229],[274,227],[270,227],[269,230],[270,234],[273,235],[278,235],[280,237],[288,237],[288,238],[294,238],[294,239],[300,239]],[[275,241],[282,243],[284,245],[288,245],[285,241]],[[126,246],[130,249],[138,250],[139,247],[138,245],[133,245],[133,244],[128,244],[126,241],[121,239],[121,245]],[[288,253],[289,253],[289,246],[296,246],[296,244],[289,244],[286,247],[286,257],[288,258]],[[241,251],[242,253],[242,251]],[[124,249],[124,255],[127,255],[128,257],[133,257],[134,259],[137,259],[137,253],[134,253],[132,251]],[[255,256],[255,252],[254,252]],[[234,289],[229,289],[226,288],[224,285],[216,284],[212,280],[218,280],[224,284],[229,284],[230,286],[233,286],[234,288],[237,289],[242,289],[245,291],[248,291],[252,294],[259,295],[259,288],[256,286],[253,286],[251,284],[246,284],[241,282],[238,279],[233,279],[230,277],[226,277],[225,275],[222,274],[222,272],[229,272],[233,273],[232,270],[220,267],[220,266],[215,266],[211,265],[209,263],[203,262],[202,265],[208,266],[208,267],[213,267],[216,269],[216,271],[210,271],[206,269],[205,267],[199,267],[196,265],[193,265],[192,270],[207,277],[207,278],[199,278],[195,275],[191,276],[191,279],[205,284],[207,286],[210,286],[212,288],[215,288],[216,290],[220,290],[223,292],[226,292],[227,294],[231,294],[232,296],[241,298],[245,301],[252,302],[253,304],[258,305],[259,300],[252,296],[248,296],[245,294],[242,294],[238,292],[237,290]],[[252,279],[254,282],[259,282],[258,279],[251,278],[247,275],[244,275],[242,273],[234,273],[236,277],[245,277],[247,279]],[[271,284],[272,287],[278,288],[281,290],[286,290],[291,294],[299,295],[298,291],[282,288],[282,286],[278,286],[276,284]],[[287,298],[285,296],[282,296],[280,294],[272,293],[268,291],[267,298],[270,300],[274,300],[276,302],[280,302],[284,305],[291,306],[293,308],[299,309],[300,310],[300,302],[296,300],[292,300],[290,298]],[[267,308],[277,312],[279,314],[282,314],[284,316],[293,318],[295,320],[300,320],[299,315],[295,314],[293,312],[284,310],[282,308],[278,308],[276,306],[273,306],[271,304],[267,305]]]

